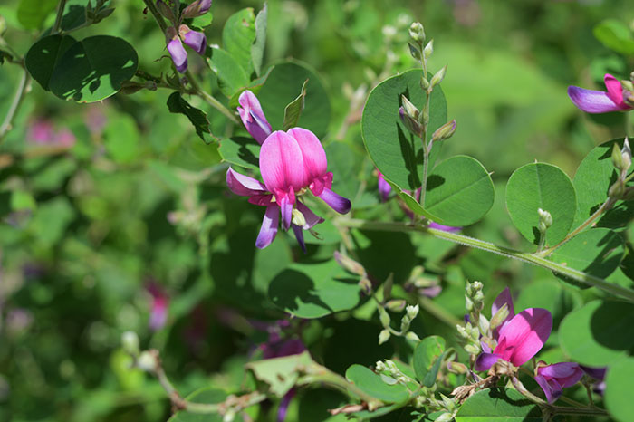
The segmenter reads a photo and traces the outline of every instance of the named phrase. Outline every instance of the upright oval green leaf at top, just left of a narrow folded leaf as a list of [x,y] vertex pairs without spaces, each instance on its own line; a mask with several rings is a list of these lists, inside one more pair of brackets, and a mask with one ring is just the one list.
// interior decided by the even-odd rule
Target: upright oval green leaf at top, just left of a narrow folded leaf
[[254,72],[251,45],[255,42],[255,14],[252,7],[229,16],[222,30],[222,42],[225,50],[234,56],[235,62],[251,76]]

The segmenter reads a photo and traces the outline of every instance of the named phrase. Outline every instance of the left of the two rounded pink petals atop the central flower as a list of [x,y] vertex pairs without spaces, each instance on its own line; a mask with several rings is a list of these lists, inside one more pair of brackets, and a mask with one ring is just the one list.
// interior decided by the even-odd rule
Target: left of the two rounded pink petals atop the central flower
[[280,191],[288,192],[290,187],[297,191],[307,186],[302,149],[282,130],[274,131],[262,144],[260,171],[264,185],[275,196],[281,194]]

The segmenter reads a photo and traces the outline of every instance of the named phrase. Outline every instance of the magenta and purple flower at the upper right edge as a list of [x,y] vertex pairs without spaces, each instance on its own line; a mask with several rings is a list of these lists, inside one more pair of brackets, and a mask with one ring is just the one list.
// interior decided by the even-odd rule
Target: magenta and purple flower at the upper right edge
[[574,102],[574,105],[587,113],[632,110],[633,107],[623,101],[623,87],[619,80],[606,73],[604,81],[605,87],[608,89],[607,92],[569,86],[568,96]]

